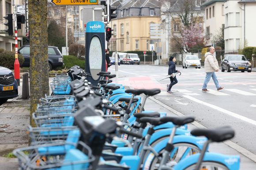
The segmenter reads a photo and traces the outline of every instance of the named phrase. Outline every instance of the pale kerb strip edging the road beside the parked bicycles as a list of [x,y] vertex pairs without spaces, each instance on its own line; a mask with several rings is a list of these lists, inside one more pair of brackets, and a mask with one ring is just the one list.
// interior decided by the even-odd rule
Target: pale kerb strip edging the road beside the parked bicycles
[[[170,112],[173,112],[177,116],[185,116],[181,112],[178,112],[177,110],[169,107],[168,105],[162,103],[161,101],[156,100],[155,98],[153,98],[151,96],[148,97],[148,98],[151,99],[152,101],[156,102],[158,105],[161,105],[165,109],[169,110]],[[207,127],[203,126],[202,124],[200,124],[200,123],[198,123],[196,121],[192,122],[191,124],[196,126],[196,127],[198,127],[198,128],[207,129]],[[247,158],[251,159],[252,161],[256,162],[256,155],[254,153],[248,151],[247,149],[241,147],[240,145],[237,145],[236,143],[234,143],[233,141],[230,141],[230,140],[224,141],[223,143],[228,145],[230,148],[233,148],[237,152],[240,152],[245,157],[247,157]]]

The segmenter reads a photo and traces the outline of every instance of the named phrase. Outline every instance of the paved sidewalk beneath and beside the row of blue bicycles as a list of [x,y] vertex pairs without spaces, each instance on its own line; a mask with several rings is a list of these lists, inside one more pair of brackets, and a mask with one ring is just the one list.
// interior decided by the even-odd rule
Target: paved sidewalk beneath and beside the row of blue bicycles
[[[21,83],[22,85],[22,79]],[[0,153],[3,151],[11,152],[14,148],[26,147],[28,142],[28,134],[26,127],[29,125],[29,100],[21,100],[22,86],[19,87],[19,97],[8,100],[7,103],[0,106]],[[161,102],[149,98],[145,105],[146,110],[154,110],[156,112],[166,112],[168,116],[180,116],[181,113],[175,112],[168,106],[164,106]],[[188,129],[197,128],[199,123],[189,124]],[[210,145],[211,152],[218,152],[228,155],[240,155],[241,170],[254,170],[256,163],[246,156],[237,152],[235,149],[224,143],[213,143]],[[17,159],[8,159],[0,156],[0,170],[18,169]]]

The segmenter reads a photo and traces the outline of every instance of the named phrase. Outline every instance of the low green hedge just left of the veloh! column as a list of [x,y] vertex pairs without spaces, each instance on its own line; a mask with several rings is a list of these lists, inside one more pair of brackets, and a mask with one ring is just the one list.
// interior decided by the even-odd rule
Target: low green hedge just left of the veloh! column
[[77,57],[73,55],[64,55],[64,66],[62,69],[66,67],[66,69],[71,68],[74,65],[80,66],[82,69],[85,69],[85,60],[79,60]]

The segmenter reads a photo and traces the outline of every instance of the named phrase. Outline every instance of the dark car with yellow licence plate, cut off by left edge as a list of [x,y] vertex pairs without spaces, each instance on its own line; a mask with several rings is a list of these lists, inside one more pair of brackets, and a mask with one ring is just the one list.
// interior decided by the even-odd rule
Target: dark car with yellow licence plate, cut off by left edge
[[18,96],[18,83],[13,72],[0,66],[0,104]]

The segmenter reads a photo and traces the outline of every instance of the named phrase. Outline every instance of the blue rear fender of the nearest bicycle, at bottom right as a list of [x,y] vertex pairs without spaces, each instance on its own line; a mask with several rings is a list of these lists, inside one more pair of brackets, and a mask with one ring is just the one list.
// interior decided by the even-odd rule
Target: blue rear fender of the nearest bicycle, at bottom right
[[[173,170],[183,170],[186,167],[197,163],[199,156],[199,153],[188,156],[187,158],[181,160],[176,166],[174,166]],[[221,163],[225,165],[229,170],[239,170],[240,167],[240,156],[229,156],[220,153],[206,152],[203,160]]]

